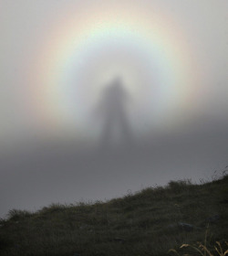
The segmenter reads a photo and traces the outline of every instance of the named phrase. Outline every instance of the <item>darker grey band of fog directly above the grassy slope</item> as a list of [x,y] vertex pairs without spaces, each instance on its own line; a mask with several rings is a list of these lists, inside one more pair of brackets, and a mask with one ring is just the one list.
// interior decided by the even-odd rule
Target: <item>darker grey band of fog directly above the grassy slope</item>
[[[199,122],[200,123],[200,122]],[[202,123],[203,124],[203,123]],[[227,165],[228,125],[129,144],[30,144],[1,157],[1,215],[122,197],[170,180],[210,181]],[[133,144],[134,143],[134,144]]]

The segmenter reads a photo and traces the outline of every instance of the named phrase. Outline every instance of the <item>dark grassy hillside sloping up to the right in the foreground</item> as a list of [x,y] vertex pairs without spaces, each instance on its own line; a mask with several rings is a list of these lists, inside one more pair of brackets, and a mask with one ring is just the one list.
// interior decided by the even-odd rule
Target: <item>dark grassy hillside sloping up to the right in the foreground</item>
[[206,232],[213,255],[216,241],[227,249],[228,176],[201,185],[171,181],[108,202],[13,209],[0,221],[0,255],[200,255],[180,246],[204,243]]

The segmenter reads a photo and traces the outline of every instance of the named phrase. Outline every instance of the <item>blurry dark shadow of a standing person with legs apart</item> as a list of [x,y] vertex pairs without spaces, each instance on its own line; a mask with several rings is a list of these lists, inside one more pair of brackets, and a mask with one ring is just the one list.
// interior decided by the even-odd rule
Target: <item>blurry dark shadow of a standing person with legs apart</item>
[[113,80],[103,91],[99,102],[99,113],[102,119],[101,144],[115,143],[115,135],[121,144],[130,144],[132,134],[126,110],[129,95],[119,78]]

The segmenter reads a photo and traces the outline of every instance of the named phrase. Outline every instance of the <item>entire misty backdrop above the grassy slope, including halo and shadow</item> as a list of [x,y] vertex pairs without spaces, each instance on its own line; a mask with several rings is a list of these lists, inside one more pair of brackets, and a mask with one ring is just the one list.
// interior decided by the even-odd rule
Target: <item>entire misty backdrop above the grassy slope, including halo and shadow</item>
[[228,165],[226,0],[0,5],[0,216]]

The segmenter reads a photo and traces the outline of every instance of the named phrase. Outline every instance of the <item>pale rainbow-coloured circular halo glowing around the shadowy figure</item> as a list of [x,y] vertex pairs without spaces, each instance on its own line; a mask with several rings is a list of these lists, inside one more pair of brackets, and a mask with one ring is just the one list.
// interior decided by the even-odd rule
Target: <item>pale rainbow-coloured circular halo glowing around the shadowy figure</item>
[[124,3],[68,5],[55,21],[30,72],[33,111],[46,129],[93,133],[89,112],[115,75],[147,127],[177,123],[192,108],[197,83],[184,33],[171,16]]

